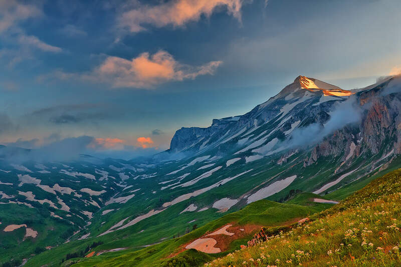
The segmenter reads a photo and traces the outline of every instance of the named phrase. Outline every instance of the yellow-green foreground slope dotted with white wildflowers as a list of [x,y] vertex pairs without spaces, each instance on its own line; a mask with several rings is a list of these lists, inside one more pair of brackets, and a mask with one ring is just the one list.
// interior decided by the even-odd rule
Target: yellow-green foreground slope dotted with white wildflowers
[[400,266],[401,169],[267,241],[208,266]]

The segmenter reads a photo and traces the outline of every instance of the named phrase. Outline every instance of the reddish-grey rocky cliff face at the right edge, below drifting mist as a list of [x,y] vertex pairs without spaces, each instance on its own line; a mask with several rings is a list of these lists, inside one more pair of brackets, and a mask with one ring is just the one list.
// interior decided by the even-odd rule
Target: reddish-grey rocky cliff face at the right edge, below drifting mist
[[[393,90],[387,93],[389,84]],[[361,152],[377,154],[380,151],[399,154],[401,152],[401,83],[394,78],[357,95],[361,107],[361,119],[352,126],[335,131],[315,146],[306,165],[321,156],[339,156],[346,161]]]

